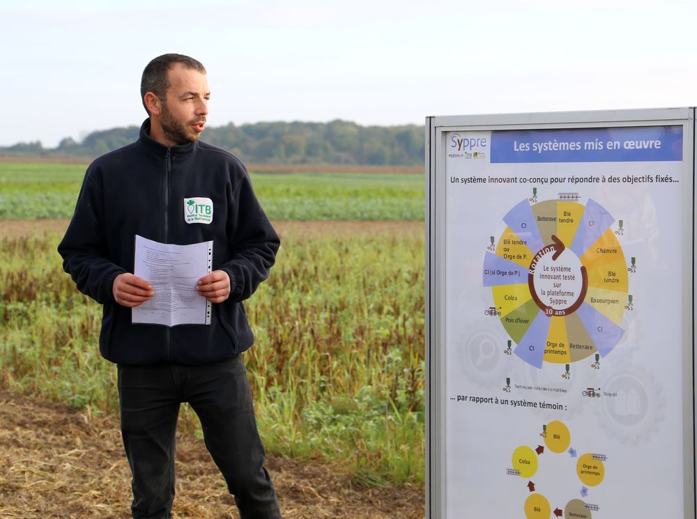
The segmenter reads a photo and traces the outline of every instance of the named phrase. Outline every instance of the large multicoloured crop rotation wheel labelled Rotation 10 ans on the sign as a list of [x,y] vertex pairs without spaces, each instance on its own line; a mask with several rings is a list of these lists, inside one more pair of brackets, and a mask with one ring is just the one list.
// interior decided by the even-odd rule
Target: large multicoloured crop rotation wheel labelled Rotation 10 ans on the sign
[[612,215],[592,199],[523,200],[503,220],[484,258],[484,286],[514,353],[537,368],[610,353],[624,333],[629,288]]

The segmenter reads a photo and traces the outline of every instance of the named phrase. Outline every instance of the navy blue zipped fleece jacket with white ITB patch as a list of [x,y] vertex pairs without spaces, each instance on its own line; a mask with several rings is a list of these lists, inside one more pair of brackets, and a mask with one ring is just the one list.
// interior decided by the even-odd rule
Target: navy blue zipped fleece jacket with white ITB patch
[[[86,172],[75,215],[58,250],[79,291],[104,305],[99,346],[118,364],[206,364],[252,346],[243,300],[268,277],[279,238],[240,160],[204,142],[167,148],[139,139],[102,155]],[[210,199],[210,223],[187,223],[186,202]],[[210,325],[132,324],[114,301],[114,278],[133,272],[135,235],[189,245],[213,240],[213,270],[229,274],[229,298]]]

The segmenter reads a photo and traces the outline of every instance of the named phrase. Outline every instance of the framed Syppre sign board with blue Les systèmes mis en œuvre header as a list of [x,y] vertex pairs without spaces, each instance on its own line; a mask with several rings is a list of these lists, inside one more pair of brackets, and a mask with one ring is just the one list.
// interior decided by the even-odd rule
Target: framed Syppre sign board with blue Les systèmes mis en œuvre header
[[695,517],[694,121],[427,118],[429,518]]

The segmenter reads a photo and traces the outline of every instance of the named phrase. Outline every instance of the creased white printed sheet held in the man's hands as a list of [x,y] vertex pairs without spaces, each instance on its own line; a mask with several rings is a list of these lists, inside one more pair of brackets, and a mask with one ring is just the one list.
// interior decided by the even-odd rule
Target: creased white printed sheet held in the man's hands
[[210,325],[210,302],[196,291],[210,273],[213,242],[168,245],[135,236],[137,277],[149,281],[155,295],[132,309],[133,323]]

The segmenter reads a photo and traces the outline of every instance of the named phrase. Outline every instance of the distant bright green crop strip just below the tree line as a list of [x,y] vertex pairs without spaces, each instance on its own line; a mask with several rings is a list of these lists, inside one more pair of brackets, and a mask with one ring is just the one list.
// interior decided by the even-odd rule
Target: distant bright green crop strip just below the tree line
[[[85,169],[82,164],[0,162],[0,219],[69,218]],[[270,219],[424,218],[424,177],[418,173],[250,175]]]

